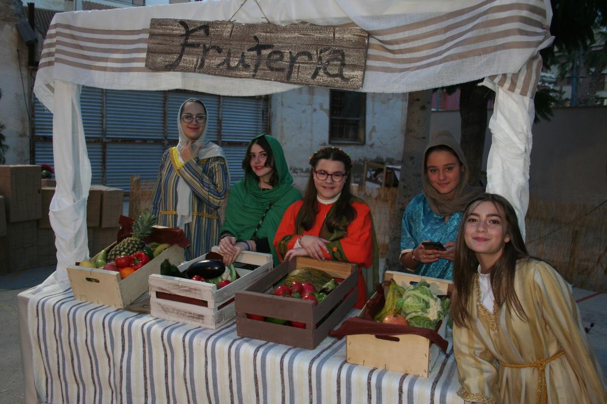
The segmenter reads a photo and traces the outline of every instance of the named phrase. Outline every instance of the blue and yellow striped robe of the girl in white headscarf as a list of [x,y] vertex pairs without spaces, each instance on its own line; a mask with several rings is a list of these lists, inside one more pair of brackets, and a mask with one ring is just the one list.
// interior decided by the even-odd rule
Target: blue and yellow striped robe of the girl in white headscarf
[[228,190],[228,168],[223,157],[200,160],[194,157],[185,164],[177,159],[177,148],[164,151],[152,200],[152,213],[158,224],[177,227],[177,179],[181,177],[192,188],[192,221],[183,229],[190,246],[185,260],[211,251],[219,242],[221,220],[217,210]]

